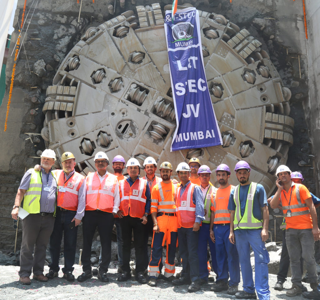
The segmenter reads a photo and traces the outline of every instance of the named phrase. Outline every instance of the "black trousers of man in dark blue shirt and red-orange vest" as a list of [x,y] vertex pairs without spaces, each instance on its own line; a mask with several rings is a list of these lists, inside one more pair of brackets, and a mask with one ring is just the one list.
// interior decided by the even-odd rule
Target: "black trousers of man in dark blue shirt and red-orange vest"
[[140,218],[125,216],[121,219],[122,231],[122,270],[130,273],[130,254],[132,231],[134,240],[134,250],[136,256],[136,273],[143,272],[145,267],[145,227]]

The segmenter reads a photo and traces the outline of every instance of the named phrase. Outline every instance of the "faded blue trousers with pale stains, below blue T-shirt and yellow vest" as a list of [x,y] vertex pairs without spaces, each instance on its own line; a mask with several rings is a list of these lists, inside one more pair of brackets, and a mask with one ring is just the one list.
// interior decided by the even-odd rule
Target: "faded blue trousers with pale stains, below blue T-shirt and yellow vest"
[[253,294],[254,282],[250,261],[250,246],[254,253],[254,281],[260,300],[270,299],[268,283],[269,253],[261,239],[261,229],[236,229],[236,248],[238,250],[244,291]]

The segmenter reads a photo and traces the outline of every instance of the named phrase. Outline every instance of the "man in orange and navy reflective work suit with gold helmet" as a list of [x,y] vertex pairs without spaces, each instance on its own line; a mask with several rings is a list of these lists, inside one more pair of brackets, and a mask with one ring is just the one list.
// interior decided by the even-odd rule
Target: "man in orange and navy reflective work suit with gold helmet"
[[171,181],[172,165],[163,162],[160,166],[162,182],[156,184],[151,192],[151,217],[153,220],[153,239],[151,260],[149,263],[148,285],[155,287],[160,274],[159,265],[162,260],[162,250],[166,241],[167,251],[163,279],[172,281],[174,278],[174,258],[178,238],[178,221],[176,217],[175,195],[177,186]]

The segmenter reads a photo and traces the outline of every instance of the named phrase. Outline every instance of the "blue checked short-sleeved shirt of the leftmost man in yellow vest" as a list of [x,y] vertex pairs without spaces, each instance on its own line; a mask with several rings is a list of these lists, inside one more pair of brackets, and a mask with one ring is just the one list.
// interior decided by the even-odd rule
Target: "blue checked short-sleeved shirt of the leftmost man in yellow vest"
[[[57,182],[53,178],[51,172],[47,174],[43,168],[41,168],[41,178],[42,178],[42,189],[40,196],[40,212],[52,213],[56,207],[56,192],[57,192]],[[20,190],[28,190],[31,180],[31,169],[28,170],[22,177],[19,186]],[[49,186],[50,191],[45,191],[44,187]]]

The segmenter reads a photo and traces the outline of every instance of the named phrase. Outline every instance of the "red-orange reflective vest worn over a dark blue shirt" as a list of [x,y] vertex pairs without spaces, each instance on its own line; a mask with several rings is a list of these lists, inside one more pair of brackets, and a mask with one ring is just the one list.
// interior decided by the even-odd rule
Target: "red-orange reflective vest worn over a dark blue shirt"
[[[126,179],[120,180],[120,207],[124,216],[141,218],[145,212],[147,202],[146,188],[147,180],[137,178],[130,187]],[[129,211],[130,209],[130,211]]]

